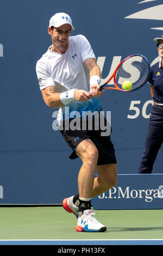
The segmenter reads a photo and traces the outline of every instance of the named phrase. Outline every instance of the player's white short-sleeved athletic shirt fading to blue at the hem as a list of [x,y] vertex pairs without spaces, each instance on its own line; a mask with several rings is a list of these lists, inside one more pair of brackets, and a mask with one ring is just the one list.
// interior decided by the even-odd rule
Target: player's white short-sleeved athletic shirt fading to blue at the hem
[[[37,61],[36,74],[39,80],[40,90],[55,86],[57,93],[66,92],[70,89],[90,90],[89,71],[84,65],[87,58],[95,58],[95,54],[89,44],[89,41],[83,35],[70,36],[68,41],[68,50],[65,53],[51,51],[50,46],[45,54]],[[69,113],[67,108],[69,107]],[[97,97],[89,101],[79,102],[71,101],[67,105],[60,107],[58,113],[58,125],[65,119],[72,118],[74,111],[79,117],[85,112],[101,111],[102,107]],[[71,115],[73,111],[73,115]]]

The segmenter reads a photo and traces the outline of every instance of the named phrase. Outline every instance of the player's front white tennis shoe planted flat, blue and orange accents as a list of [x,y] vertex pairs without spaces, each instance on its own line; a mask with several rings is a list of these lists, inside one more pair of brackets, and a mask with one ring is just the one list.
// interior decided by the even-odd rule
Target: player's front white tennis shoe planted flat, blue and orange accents
[[76,231],[104,232],[106,227],[95,218],[95,212],[91,209],[85,210],[81,217],[78,217]]

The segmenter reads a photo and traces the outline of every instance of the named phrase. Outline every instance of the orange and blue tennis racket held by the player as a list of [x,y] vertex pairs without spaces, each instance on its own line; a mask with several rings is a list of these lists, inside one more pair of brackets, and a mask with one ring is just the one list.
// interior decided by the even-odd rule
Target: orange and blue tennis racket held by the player
[[[101,86],[101,90],[115,89],[122,92],[133,92],[141,88],[148,80],[150,65],[148,59],[141,54],[133,54],[118,64],[112,76]],[[115,87],[108,87],[113,78]],[[124,88],[124,82],[130,82],[130,88]]]

